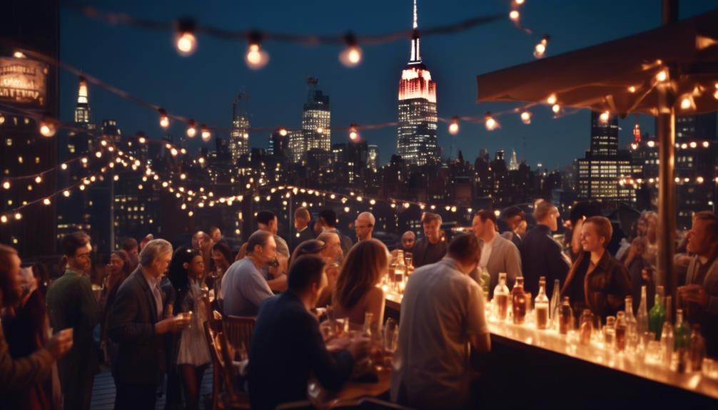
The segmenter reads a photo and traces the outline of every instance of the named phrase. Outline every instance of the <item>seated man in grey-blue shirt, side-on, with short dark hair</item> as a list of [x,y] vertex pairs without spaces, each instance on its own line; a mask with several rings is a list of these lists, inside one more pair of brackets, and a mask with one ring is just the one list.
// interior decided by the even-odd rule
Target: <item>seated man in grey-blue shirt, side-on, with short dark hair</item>
[[222,278],[225,315],[256,316],[259,305],[274,294],[259,270],[276,258],[271,233],[257,231],[247,240],[247,256],[234,262]]

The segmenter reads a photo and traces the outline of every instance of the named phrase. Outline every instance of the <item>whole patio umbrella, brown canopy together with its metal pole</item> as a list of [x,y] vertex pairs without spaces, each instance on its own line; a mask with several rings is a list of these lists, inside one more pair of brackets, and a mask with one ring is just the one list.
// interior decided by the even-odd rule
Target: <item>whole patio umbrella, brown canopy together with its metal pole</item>
[[677,15],[678,1],[663,0],[658,29],[477,76],[479,103],[549,103],[658,118],[658,275],[666,295],[676,285],[675,114],[718,110],[718,9],[680,22]]

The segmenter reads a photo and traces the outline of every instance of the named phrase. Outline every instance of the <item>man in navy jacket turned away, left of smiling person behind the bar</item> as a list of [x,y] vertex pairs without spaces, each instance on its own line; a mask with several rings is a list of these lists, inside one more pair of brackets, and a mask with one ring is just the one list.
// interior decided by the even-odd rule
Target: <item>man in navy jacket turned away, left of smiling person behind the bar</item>
[[566,280],[571,263],[561,250],[561,245],[551,237],[559,229],[559,210],[550,201],[536,203],[533,216],[538,224],[521,241],[521,267],[523,288],[531,295],[538,295],[538,278],[546,277],[546,294],[553,295],[554,280]]

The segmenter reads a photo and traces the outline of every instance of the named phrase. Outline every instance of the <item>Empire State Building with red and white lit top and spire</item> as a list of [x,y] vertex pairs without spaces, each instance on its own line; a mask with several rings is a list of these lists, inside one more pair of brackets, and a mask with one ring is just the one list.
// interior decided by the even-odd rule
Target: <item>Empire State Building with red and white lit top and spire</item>
[[420,37],[414,0],[411,57],[399,80],[396,151],[406,163],[419,166],[439,160],[437,84],[421,61]]

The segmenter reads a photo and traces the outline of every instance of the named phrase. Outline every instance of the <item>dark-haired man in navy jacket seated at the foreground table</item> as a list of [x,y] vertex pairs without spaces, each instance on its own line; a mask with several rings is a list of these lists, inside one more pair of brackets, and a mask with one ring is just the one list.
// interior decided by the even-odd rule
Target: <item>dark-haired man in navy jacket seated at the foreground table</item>
[[249,351],[252,409],[306,400],[310,373],[325,388],[340,388],[355,360],[366,355],[366,338],[351,343],[333,340],[328,345],[322,340],[317,318],[309,309],[327,285],[324,268],[321,257],[297,258],[289,272],[289,290],[262,303]]

